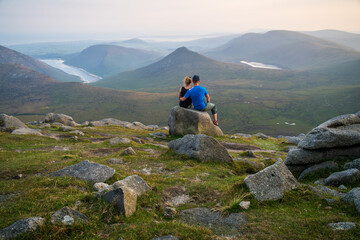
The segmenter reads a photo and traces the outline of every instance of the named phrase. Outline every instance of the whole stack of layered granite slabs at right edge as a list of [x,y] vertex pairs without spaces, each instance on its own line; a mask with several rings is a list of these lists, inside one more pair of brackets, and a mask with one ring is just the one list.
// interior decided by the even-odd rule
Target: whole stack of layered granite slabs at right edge
[[294,172],[327,160],[359,157],[360,117],[357,113],[334,117],[311,130],[298,148],[289,151],[285,164]]

